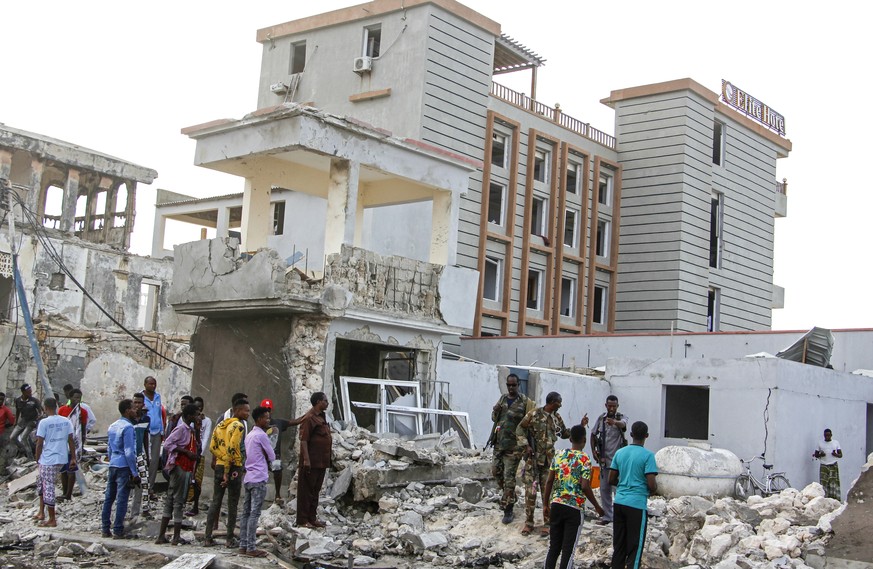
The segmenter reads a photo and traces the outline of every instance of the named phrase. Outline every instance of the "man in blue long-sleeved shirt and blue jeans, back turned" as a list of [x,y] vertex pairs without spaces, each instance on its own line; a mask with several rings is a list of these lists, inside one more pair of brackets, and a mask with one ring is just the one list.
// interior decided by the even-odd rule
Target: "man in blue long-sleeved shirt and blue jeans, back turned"
[[[129,482],[139,483],[136,469],[136,438],[133,434],[133,421],[136,409],[133,401],[124,399],[118,404],[121,418],[109,426],[109,479],[103,499],[103,537],[110,535],[115,539],[124,538],[124,515],[127,513],[127,497],[130,495]],[[109,524],[112,517],[112,504],[115,504],[115,525],[112,534]]]

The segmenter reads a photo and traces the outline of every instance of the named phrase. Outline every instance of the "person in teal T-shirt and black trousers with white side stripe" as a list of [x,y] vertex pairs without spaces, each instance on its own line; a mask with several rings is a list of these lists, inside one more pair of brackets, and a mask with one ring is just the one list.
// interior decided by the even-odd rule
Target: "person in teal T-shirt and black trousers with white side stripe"
[[638,569],[646,538],[649,495],[658,489],[655,453],[644,448],[649,426],[631,426],[633,442],[615,453],[609,481],[616,487],[612,526],[612,569]]

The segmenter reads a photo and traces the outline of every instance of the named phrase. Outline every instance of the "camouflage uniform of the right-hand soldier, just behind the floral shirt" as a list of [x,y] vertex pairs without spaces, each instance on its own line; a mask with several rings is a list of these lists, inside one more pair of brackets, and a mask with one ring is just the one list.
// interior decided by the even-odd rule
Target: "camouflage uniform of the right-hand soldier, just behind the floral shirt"
[[[517,444],[524,448],[528,445],[528,435],[533,441],[534,453],[525,460],[524,474],[524,515],[525,524],[534,525],[533,514],[537,507],[537,491],[542,492],[549,478],[549,467],[555,456],[555,441],[558,437],[570,437],[570,429],[564,425],[564,419],[555,411],[547,413],[540,407],[528,413],[515,431]],[[543,500],[547,500],[543,496]],[[544,517],[548,525],[549,520]]]

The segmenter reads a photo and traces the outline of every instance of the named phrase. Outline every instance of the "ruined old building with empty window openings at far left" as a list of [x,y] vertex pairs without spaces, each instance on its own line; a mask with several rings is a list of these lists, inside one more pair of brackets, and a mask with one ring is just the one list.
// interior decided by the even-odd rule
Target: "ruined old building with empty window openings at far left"
[[[0,178],[14,196],[15,241],[0,234],[0,389],[39,385],[12,275],[17,255],[51,388],[70,383],[105,428],[122,395],[159,378],[189,389],[194,319],[167,302],[172,263],[128,252],[138,184],[157,172],[41,134],[0,125]],[[4,212],[5,213],[5,212]],[[133,331],[136,339],[124,329]],[[37,396],[43,389],[36,388]]]

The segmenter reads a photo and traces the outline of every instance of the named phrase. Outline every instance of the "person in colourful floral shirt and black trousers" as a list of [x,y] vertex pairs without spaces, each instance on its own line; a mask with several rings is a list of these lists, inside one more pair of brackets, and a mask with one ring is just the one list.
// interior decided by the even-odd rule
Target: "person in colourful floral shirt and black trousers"
[[573,566],[573,553],[584,520],[585,498],[591,501],[597,515],[603,515],[603,508],[591,491],[591,459],[582,450],[585,448],[585,427],[574,425],[570,429],[570,443],[570,450],[555,454],[543,492],[543,496],[548,496],[543,500],[543,518],[549,520],[549,552],[545,569],[555,569],[559,554],[561,569]]

